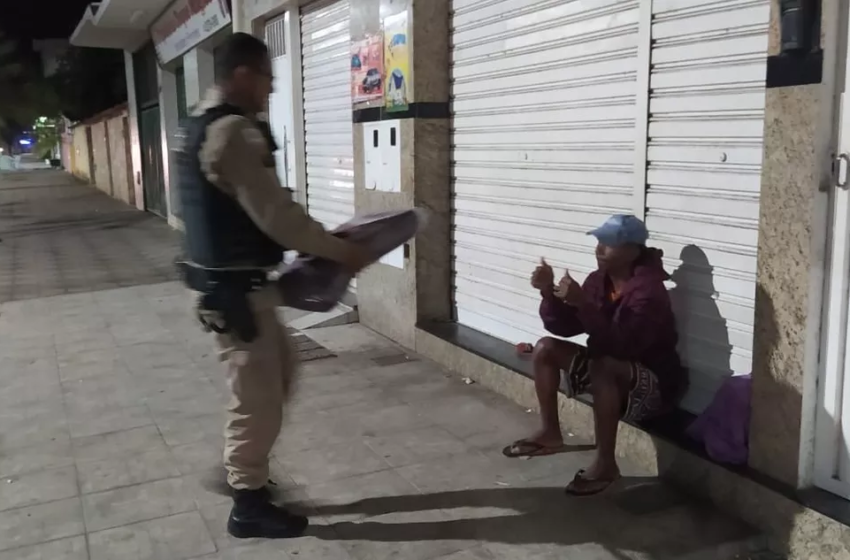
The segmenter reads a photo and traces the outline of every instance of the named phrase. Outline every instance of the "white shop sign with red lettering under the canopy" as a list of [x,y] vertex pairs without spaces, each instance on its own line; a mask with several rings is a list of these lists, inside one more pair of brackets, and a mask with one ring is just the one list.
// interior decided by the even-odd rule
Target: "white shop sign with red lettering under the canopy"
[[228,25],[227,0],[176,0],[154,22],[151,38],[166,64]]

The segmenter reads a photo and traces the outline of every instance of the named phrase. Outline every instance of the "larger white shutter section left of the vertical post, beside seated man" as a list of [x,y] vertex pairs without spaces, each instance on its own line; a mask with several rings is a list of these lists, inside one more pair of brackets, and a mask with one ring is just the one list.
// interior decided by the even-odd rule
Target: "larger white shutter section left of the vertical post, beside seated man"
[[457,320],[533,342],[540,257],[583,280],[586,232],[633,209],[639,3],[452,5]]

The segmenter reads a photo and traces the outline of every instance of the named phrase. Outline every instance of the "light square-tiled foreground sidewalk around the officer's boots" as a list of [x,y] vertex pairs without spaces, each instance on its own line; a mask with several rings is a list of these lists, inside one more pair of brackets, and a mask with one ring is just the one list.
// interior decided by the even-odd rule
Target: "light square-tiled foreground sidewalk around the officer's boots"
[[[115,274],[134,264],[87,227],[17,250],[61,260],[87,239]],[[149,262],[173,248],[157,224],[127,231]],[[0,560],[731,560],[760,543],[654,480],[567,498],[590,452],[505,459],[533,414],[360,325],[308,331],[334,356],[302,366],[274,449],[273,476],[310,533],[234,540],[229,498],[210,483],[223,366],[177,283],[140,284],[71,293],[45,281],[39,294],[62,295],[0,305]]]

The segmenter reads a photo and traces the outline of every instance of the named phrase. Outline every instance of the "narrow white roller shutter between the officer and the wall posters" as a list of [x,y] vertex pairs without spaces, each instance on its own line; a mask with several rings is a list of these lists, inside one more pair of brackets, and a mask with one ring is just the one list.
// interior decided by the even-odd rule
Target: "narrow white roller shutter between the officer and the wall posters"
[[325,227],[354,215],[348,0],[302,9],[307,209]]

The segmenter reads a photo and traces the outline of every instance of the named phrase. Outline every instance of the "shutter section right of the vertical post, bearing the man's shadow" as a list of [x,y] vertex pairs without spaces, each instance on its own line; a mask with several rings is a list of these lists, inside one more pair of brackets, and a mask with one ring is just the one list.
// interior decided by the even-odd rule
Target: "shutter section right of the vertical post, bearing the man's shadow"
[[750,373],[770,1],[654,0],[647,226],[702,411]]

